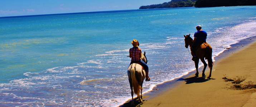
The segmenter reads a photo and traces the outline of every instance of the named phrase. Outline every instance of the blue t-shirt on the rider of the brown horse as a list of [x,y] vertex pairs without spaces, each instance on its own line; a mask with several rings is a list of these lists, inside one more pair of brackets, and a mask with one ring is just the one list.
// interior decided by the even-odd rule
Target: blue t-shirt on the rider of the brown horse
[[206,42],[206,38],[207,38],[207,33],[206,31],[197,31],[194,34],[194,37],[197,38],[197,40],[195,41],[195,44],[199,45],[202,44],[203,42]]

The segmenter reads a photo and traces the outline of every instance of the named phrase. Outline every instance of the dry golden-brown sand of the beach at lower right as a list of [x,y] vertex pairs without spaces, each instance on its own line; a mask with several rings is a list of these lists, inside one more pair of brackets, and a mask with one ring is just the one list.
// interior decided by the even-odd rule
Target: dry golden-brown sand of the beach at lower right
[[[218,61],[213,70],[210,80],[200,77],[201,75],[197,78],[184,78],[174,88],[139,106],[256,107],[256,87],[253,86],[256,84],[256,43]],[[206,70],[206,75],[209,75],[209,69]],[[233,81],[225,82],[223,77],[236,80],[238,84],[232,83]],[[245,80],[239,83],[239,78]],[[252,88],[247,89],[250,87]]]

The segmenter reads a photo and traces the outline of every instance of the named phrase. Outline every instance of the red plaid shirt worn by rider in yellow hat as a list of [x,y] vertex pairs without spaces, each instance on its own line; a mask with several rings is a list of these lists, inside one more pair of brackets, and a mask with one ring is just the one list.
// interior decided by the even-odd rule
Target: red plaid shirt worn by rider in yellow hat
[[131,61],[139,61],[141,57],[141,49],[139,47],[132,47],[130,50]]

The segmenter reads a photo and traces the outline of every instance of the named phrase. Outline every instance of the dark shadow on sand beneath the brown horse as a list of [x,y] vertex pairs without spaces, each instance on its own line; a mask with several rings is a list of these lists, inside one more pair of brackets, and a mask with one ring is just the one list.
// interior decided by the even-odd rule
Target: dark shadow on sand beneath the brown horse
[[189,77],[189,78],[179,78],[177,81],[185,81],[186,84],[190,83],[201,83],[201,82],[206,82],[209,80],[215,80],[214,78],[205,78],[205,77]]

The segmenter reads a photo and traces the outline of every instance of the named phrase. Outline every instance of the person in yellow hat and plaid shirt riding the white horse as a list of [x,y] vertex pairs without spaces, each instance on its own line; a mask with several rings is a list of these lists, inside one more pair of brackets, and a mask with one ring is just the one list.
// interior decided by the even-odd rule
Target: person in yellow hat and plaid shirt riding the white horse
[[137,40],[133,40],[131,42],[131,44],[133,45],[133,47],[129,50],[129,53],[130,53],[130,58],[131,58],[131,63],[137,63],[139,62],[141,64],[141,66],[143,66],[145,72],[146,72],[146,81],[150,81],[150,78],[149,78],[149,67],[148,65],[141,60],[141,49],[138,47],[140,44],[139,44],[139,41]]

